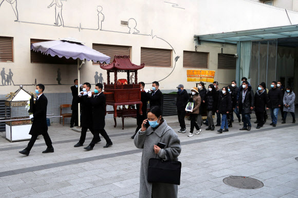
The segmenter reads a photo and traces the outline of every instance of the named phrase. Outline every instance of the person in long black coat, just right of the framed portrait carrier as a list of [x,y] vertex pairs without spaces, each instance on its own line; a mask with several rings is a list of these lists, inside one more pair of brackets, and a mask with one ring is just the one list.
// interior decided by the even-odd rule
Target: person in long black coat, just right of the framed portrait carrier
[[217,102],[218,102],[218,93],[215,90],[215,87],[213,84],[210,84],[208,86],[208,91],[205,97],[205,100],[203,103],[206,103],[206,109],[207,109],[207,119],[208,119],[208,128],[206,130],[214,131],[215,126],[213,122],[213,113],[217,110]]

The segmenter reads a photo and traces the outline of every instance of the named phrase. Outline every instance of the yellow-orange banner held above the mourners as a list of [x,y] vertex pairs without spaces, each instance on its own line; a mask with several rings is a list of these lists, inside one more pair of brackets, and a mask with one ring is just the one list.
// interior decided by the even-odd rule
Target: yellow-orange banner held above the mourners
[[188,82],[214,82],[215,71],[212,70],[187,70]]

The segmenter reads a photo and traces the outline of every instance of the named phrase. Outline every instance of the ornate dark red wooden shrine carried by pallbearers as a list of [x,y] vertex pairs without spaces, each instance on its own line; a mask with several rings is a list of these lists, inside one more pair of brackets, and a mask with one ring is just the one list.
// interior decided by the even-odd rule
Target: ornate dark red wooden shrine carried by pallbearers
[[[145,64],[135,65],[129,59],[129,56],[114,57],[113,63],[108,65],[101,64],[100,67],[107,70],[107,84],[104,83],[104,92],[106,94],[106,105],[111,105],[114,111],[107,111],[106,113],[114,113],[114,121],[117,126],[116,118],[122,118],[122,129],[124,129],[124,117],[136,117],[137,110],[132,108],[132,105],[140,105],[139,113],[142,114],[142,102],[141,102],[141,85],[138,84],[138,70],[144,68]],[[110,83],[110,73],[114,72],[114,84]],[[127,73],[126,81],[118,80],[117,73]],[[133,75],[135,74],[135,82],[131,82]],[[122,109],[117,109],[117,106],[122,106]],[[128,108],[126,107],[128,106]]]

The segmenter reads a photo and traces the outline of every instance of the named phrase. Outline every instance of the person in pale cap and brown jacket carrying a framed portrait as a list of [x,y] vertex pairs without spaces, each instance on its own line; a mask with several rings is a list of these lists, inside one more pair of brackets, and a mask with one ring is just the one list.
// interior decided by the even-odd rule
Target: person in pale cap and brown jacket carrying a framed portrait
[[[194,136],[193,134],[193,131],[194,131],[194,128],[196,127],[196,134],[199,134],[202,130],[200,129],[200,127],[198,126],[197,124],[197,117],[198,117],[198,114],[200,112],[200,105],[201,105],[201,97],[199,95],[199,91],[198,91],[198,88],[197,87],[193,87],[191,89],[191,92],[192,92],[192,96],[190,98],[190,102],[194,102],[194,107],[193,107],[193,110],[190,111],[190,115],[191,115],[191,130],[188,134],[189,137],[192,137]],[[186,111],[186,109],[185,109]]]

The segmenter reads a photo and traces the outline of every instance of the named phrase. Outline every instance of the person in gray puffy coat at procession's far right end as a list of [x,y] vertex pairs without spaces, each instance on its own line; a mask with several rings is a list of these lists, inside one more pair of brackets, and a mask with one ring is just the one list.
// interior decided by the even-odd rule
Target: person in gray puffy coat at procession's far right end
[[282,122],[282,124],[286,123],[286,118],[287,118],[287,114],[288,112],[291,113],[292,117],[293,117],[293,122],[295,123],[295,94],[292,90],[291,87],[287,87],[286,88],[286,93],[284,95],[284,121]]

